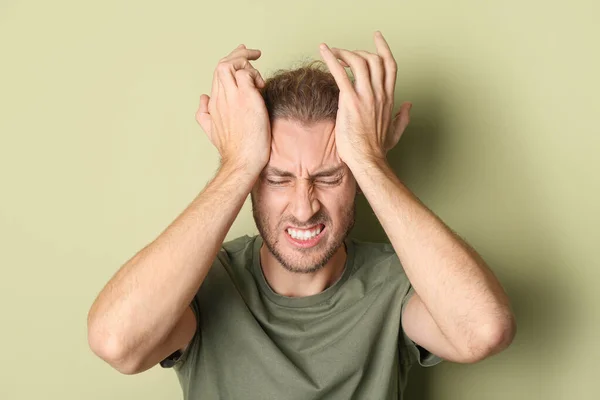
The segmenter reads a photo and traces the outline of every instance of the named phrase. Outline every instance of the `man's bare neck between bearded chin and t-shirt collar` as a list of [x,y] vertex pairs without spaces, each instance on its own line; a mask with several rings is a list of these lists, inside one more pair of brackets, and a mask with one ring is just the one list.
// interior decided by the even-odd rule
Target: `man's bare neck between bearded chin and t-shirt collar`
[[346,257],[346,246],[342,245],[323,268],[299,273],[285,269],[264,243],[260,248],[260,264],[267,283],[275,293],[287,297],[312,296],[333,285],[344,272]]

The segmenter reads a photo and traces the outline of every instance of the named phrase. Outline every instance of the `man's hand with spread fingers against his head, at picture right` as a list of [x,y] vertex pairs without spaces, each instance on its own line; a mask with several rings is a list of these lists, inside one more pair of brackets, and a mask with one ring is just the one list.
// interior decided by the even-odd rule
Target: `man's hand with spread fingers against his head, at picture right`
[[[397,65],[379,31],[375,32],[375,47],[377,54],[330,49],[325,43],[320,46],[321,56],[340,89],[335,141],[340,158],[348,166],[385,160],[409,123],[409,102],[403,103],[391,118]],[[352,70],[354,85],[344,67]]]

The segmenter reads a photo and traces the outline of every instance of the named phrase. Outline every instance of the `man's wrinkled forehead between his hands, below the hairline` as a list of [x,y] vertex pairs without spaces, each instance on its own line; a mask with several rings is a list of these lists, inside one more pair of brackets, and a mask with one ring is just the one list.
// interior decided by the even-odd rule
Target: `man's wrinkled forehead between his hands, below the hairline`
[[271,122],[271,158],[269,166],[290,172],[312,172],[323,166],[339,165],[335,147],[334,121],[311,125],[294,120]]

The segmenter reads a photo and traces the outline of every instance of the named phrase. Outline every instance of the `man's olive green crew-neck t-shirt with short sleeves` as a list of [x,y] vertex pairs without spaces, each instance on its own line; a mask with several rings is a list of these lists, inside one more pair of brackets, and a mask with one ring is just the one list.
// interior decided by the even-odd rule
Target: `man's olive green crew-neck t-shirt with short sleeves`
[[185,400],[402,399],[411,365],[441,361],[402,330],[414,291],[390,244],[346,238],[341,277],[307,297],[271,289],[261,245],[224,243],[193,299],[196,334],[173,366]]

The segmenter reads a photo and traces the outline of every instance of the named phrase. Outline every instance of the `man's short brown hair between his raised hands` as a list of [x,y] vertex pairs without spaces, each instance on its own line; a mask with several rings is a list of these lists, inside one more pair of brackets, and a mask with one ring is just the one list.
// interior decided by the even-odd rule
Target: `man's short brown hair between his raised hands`
[[339,88],[327,65],[310,61],[295,69],[278,70],[260,90],[269,118],[293,119],[310,125],[335,121]]

